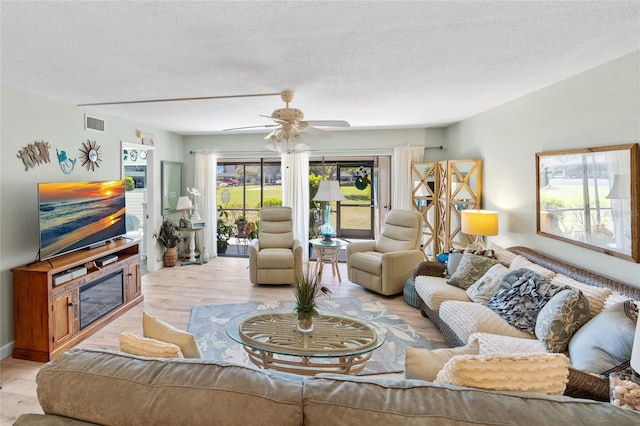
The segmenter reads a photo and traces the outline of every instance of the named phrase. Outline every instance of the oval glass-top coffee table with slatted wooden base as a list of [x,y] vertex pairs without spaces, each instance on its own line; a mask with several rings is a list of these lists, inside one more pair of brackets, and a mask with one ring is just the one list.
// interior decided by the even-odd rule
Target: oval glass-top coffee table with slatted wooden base
[[303,375],[357,374],[384,343],[370,322],[333,314],[314,317],[313,331],[301,333],[290,310],[238,315],[225,330],[258,367]]

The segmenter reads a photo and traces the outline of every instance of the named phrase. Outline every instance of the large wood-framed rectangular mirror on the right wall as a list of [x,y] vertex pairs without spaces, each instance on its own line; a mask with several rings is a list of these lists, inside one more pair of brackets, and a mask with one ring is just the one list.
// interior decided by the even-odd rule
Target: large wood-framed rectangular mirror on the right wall
[[536,153],[537,233],[640,263],[638,144]]

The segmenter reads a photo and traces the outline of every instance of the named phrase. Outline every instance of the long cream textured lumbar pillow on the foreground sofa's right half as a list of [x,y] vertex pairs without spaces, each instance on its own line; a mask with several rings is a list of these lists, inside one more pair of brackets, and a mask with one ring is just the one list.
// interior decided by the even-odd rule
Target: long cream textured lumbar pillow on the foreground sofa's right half
[[434,383],[562,395],[568,376],[569,358],[562,354],[458,355]]

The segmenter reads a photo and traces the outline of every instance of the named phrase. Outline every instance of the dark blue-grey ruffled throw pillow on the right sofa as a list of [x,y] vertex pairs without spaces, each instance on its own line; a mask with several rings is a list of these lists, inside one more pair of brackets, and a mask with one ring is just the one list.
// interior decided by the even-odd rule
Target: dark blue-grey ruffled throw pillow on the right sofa
[[561,290],[535,272],[517,269],[504,277],[487,307],[512,326],[535,334],[538,312]]

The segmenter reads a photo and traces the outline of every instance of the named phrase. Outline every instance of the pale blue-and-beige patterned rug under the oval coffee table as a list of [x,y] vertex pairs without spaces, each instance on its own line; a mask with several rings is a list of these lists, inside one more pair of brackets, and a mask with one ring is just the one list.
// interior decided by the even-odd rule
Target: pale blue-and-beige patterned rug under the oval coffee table
[[[360,375],[402,372],[405,348],[431,349],[427,339],[416,333],[409,324],[382,304],[379,299],[373,297],[322,298],[318,305],[321,312],[366,319],[385,333],[384,344],[373,352]],[[191,310],[188,330],[196,336],[205,358],[253,365],[242,345],[227,336],[224,326],[236,315],[269,309],[293,311],[293,300],[195,306]]]

